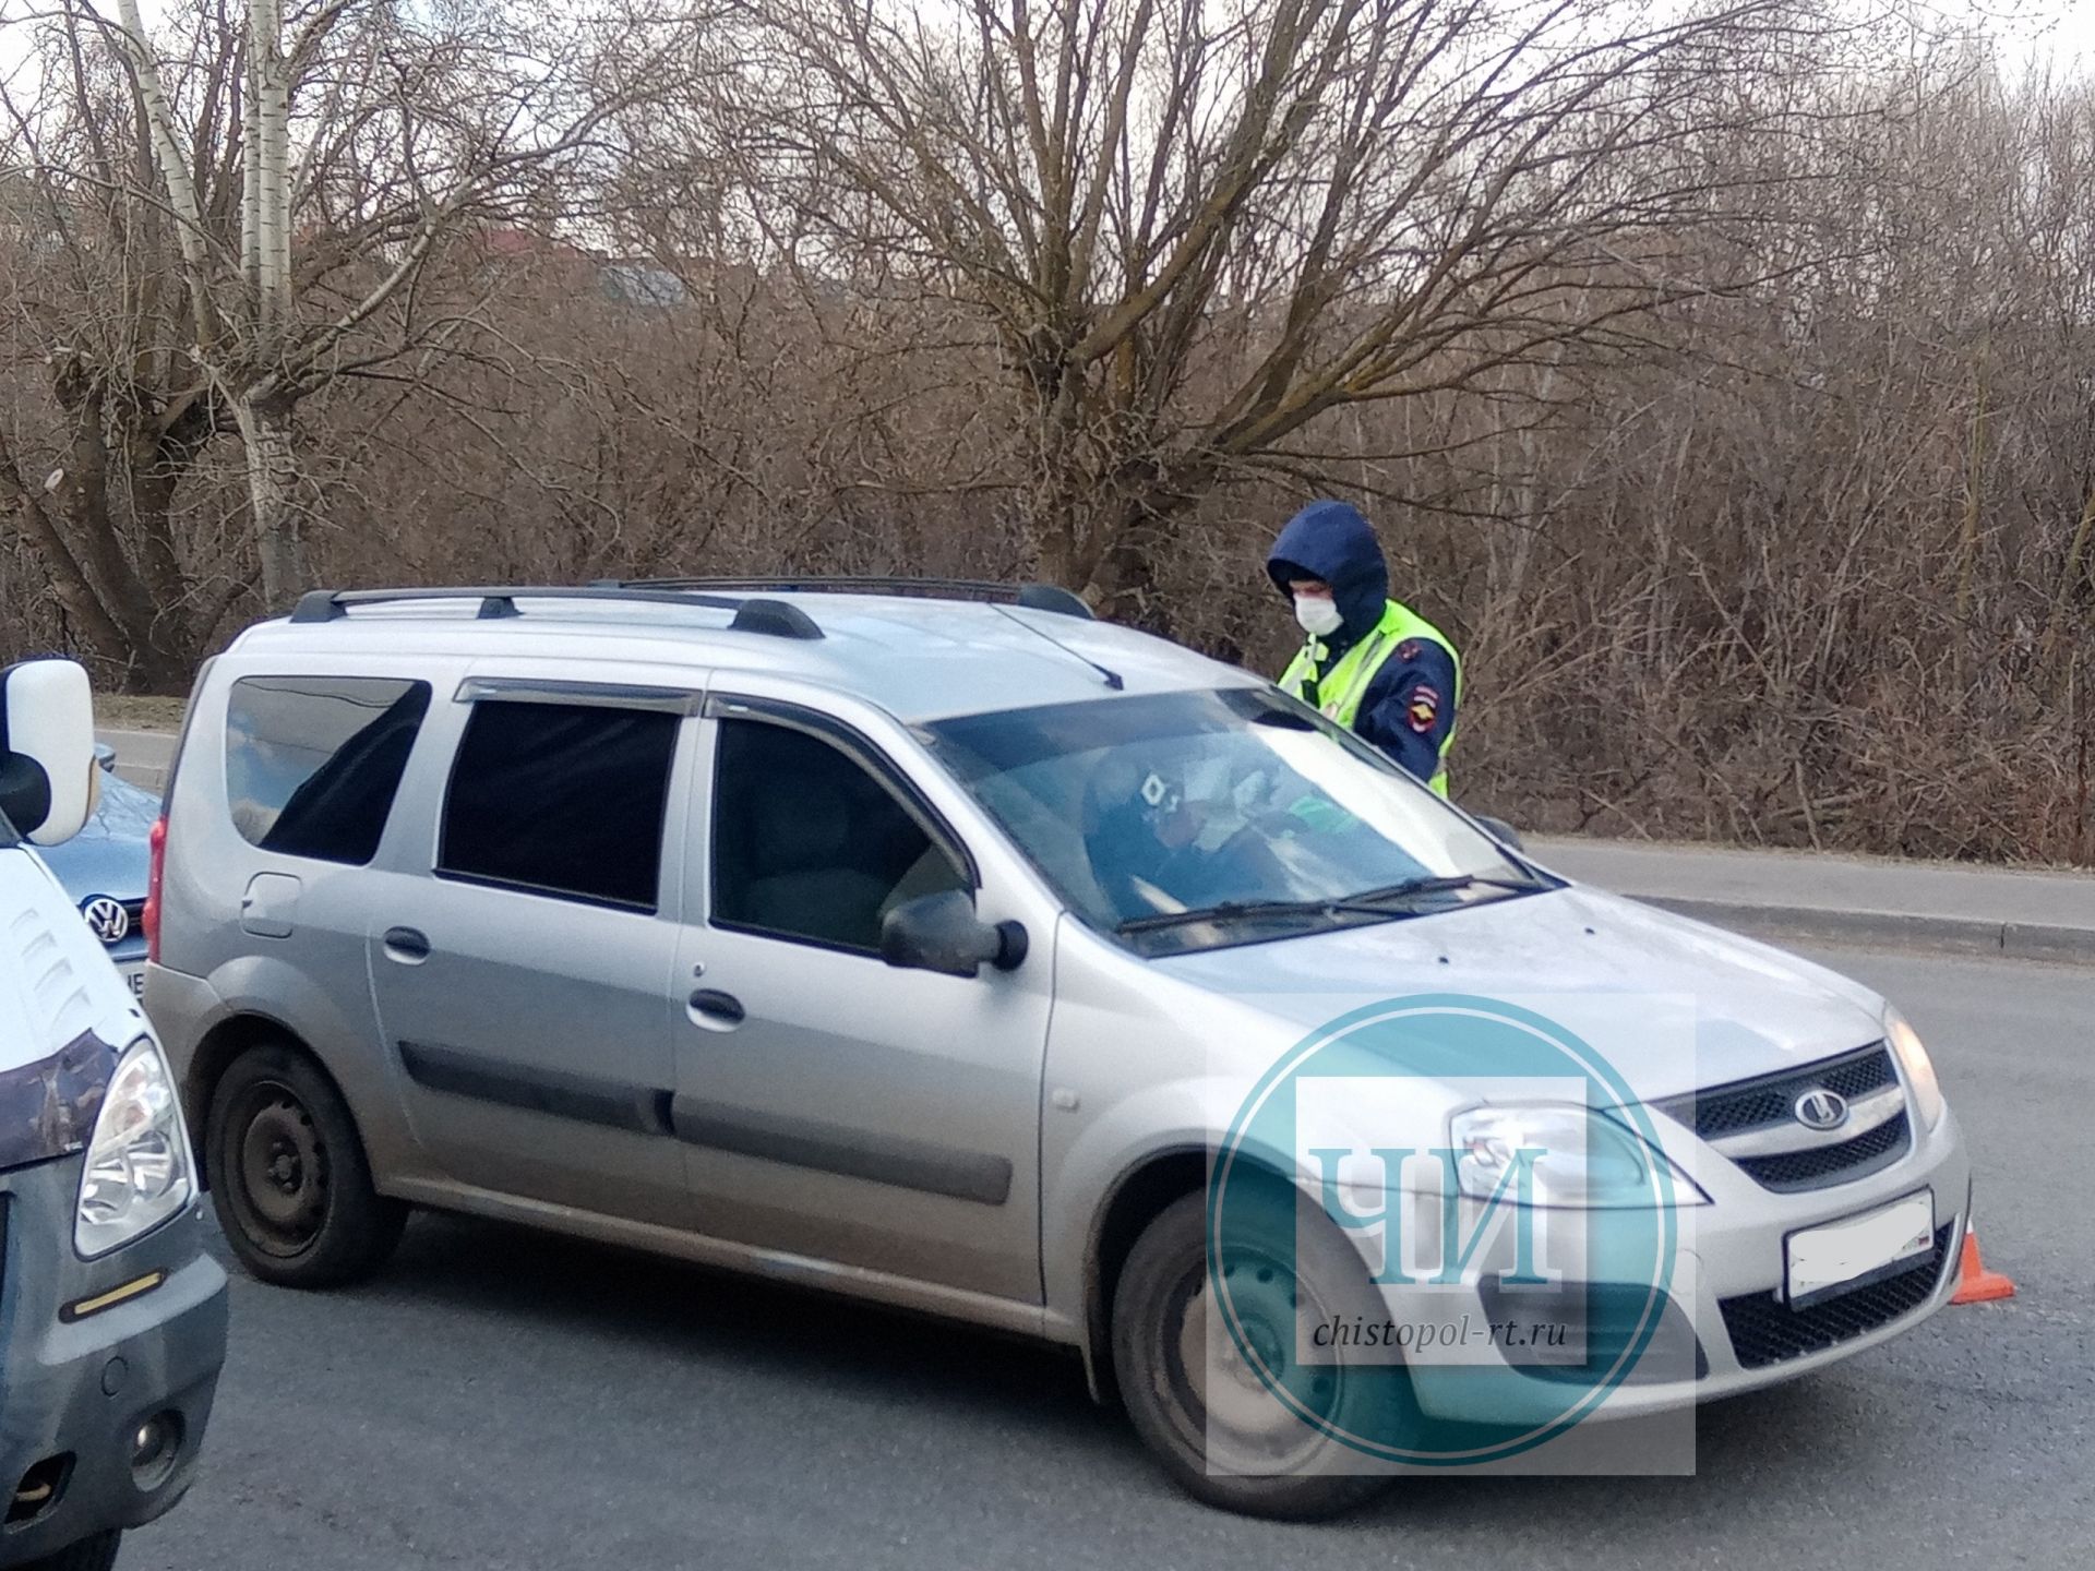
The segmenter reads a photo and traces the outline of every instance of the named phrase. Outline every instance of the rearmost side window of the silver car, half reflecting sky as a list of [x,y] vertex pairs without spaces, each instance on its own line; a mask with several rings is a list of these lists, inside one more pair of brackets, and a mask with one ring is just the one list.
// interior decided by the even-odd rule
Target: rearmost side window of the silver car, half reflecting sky
[[362,865],[377,855],[429,683],[241,677],[226,700],[226,802],[249,844]]

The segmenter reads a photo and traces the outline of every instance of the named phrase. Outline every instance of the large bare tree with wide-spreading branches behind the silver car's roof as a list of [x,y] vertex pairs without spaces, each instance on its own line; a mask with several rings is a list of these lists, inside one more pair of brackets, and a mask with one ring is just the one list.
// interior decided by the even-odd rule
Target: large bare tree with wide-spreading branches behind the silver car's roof
[[1802,71],[1810,27],[1787,0],[947,17],[748,6],[723,147],[804,264],[899,256],[983,312],[1041,568],[1123,612],[1219,482],[1320,469],[1330,411],[1617,350],[1758,272],[1682,276],[1668,235],[1733,178],[1699,132],[1741,121],[1743,75]]

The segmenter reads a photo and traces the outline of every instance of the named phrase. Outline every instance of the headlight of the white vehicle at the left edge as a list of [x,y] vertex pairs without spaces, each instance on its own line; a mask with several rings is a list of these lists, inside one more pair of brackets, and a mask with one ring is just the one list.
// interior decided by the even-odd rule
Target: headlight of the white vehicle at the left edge
[[159,1043],[140,1037],[109,1081],[80,1179],[73,1248],[86,1261],[122,1248],[189,1204],[189,1131]]

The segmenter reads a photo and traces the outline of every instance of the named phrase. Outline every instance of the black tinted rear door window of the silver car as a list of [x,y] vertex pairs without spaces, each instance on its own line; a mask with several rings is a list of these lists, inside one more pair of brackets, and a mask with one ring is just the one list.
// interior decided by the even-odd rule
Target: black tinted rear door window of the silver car
[[585,704],[473,704],[436,871],[654,911],[677,725]]

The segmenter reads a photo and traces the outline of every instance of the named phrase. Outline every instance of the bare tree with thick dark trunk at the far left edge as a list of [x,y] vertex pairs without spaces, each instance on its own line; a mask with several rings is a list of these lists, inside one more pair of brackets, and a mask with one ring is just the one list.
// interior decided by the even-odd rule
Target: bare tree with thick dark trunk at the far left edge
[[140,197],[151,155],[122,73],[75,15],[34,44],[0,88],[15,155],[0,172],[0,344],[27,373],[0,419],[0,515],[29,543],[69,645],[174,687],[251,578],[226,519],[178,517],[218,406],[182,348],[176,233]]

